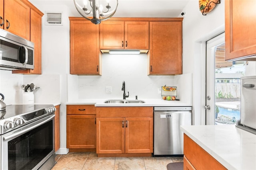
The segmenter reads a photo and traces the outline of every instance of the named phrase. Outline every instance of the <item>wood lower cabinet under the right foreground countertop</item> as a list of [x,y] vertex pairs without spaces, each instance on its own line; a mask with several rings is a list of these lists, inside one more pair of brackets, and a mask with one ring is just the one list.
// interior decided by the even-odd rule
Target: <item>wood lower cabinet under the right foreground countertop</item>
[[208,152],[184,134],[184,170],[226,170]]

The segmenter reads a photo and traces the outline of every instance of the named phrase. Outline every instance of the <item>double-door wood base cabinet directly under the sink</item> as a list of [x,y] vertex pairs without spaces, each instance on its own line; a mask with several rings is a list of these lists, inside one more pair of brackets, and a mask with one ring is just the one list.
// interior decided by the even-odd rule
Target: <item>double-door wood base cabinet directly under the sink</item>
[[96,110],[98,155],[153,152],[152,107],[97,107]]

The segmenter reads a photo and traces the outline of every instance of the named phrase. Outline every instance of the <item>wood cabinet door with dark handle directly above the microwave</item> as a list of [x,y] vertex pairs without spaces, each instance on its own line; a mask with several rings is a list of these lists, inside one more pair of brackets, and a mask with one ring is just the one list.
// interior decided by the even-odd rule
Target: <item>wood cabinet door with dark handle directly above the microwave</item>
[[[8,22],[10,23],[7,23]],[[30,7],[21,0],[4,1],[4,29],[30,41]],[[7,28],[10,26],[9,28]]]

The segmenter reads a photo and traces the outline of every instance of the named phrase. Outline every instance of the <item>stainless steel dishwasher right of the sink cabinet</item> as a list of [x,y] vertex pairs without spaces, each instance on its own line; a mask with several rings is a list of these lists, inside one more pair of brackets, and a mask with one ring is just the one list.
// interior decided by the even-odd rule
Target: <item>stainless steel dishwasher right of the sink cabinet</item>
[[192,107],[154,107],[153,156],[183,156],[181,125],[192,125]]

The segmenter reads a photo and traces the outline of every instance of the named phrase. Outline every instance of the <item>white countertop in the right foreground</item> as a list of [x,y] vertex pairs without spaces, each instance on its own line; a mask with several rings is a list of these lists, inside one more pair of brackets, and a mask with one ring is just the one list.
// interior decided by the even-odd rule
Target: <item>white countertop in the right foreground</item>
[[180,129],[228,170],[256,170],[253,133],[235,125],[192,125]]

